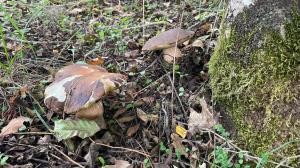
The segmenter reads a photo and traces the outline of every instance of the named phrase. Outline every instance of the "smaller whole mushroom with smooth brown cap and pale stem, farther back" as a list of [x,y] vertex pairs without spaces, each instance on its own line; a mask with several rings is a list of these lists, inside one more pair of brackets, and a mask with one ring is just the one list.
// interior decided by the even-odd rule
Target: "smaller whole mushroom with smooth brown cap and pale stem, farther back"
[[164,60],[168,63],[173,62],[173,58],[181,57],[181,51],[176,45],[182,44],[189,40],[194,35],[194,32],[183,29],[170,29],[161,34],[149,39],[143,51],[163,50]]

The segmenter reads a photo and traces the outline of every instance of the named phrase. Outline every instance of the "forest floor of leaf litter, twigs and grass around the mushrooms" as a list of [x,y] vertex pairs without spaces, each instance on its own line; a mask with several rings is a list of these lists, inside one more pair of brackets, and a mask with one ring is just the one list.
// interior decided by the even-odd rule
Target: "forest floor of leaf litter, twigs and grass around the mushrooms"
[[[218,122],[219,114],[210,107],[208,61],[225,12],[223,1],[2,0],[0,4],[0,128],[20,116],[30,119],[16,121],[1,138],[1,165],[242,165],[247,152],[227,139],[222,125],[195,130],[189,124],[192,113],[204,111],[207,115],[200,119],[209,121],[200,123]],[[141,51],[149,38],[172,28],[195,32],[179,46],[183,53],[179,62],[169,65],[161,51]],[[103,100],[107,129],[85,139],[58,141],[51,130],[63,116],[46,108],[44,91],[59,69],[78,62],[126,74],[127,84]]]

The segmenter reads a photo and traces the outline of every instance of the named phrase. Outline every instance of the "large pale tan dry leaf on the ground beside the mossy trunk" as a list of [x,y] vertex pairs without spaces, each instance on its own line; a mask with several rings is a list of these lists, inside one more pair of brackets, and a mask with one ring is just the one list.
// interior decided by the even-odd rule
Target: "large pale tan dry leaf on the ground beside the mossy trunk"
[[203,128],[211,128],[216,124],[213,117],[213,113],[210,112],[206,101],[200,99],[202,112],[198,113],[194,109],[190,108],[190,117],[188,121],[189,132],[194,135]]

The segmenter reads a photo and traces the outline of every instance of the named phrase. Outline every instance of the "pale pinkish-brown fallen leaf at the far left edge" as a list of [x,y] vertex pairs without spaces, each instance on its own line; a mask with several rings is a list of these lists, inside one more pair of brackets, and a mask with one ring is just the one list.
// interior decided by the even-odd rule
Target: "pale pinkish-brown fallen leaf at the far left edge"
[[30,118],[23,117],[23,116],[10,120],[7,126],[2,128],[0,133],[0,139],[4,138],[6,135],[18,132],[19,128],[23,126],[23,123],[25,121],[30,121],[30,120],[31,120]]

